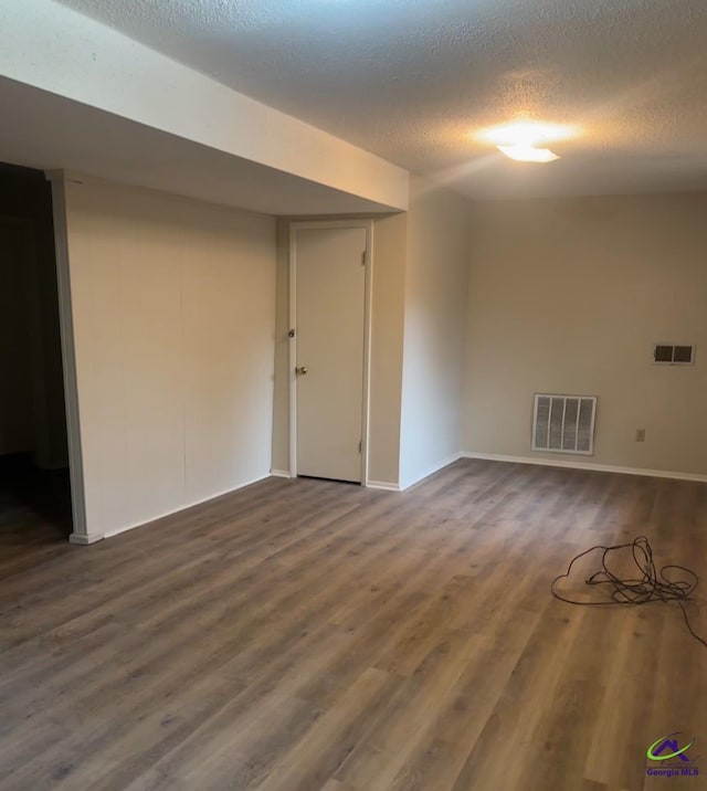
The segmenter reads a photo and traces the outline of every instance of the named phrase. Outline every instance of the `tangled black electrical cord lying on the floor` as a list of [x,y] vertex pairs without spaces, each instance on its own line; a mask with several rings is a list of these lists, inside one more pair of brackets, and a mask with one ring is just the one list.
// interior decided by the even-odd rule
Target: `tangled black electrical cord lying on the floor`
[[[557,583],[567,579],[571,571],[572,566],[585,555],[593,552],[598,549],[602,550],[601,555],[601,569],[595,571],[589,577],[585,582],[588,586],[609,586],[611,588],[611,600],[610,601],[577,601],[576,599],[569,599],[566,595],[558,593]],[[615,553],[622,549],[631,549],[633,553],[633,560],[641,572],[641,577],[637,579],[622,579],[614,574],[609,568],[608,559],[610,555]],[[687,578],[671,579],[666,571],[674,569],[684,572]],[[674,574],[673,574],[674,577]],[[598,545],[591,547],[583,552],[574,556],[567,567],[567,571],[559,577],[556,577],[550,584],[550,591],[556,599],[564,601],[568,604],[581,604],[585,607],[606,604],[647,604],[652,601],[662,601],[668,603],[676,601],[680,610],[683,611],[683,618],[685,624],[689,630],[689,633],[698,640],[705,647],[707,647],[707,641],[700,637],[690,626],[687,618],[687,611],[683,602],[689,601],[693,598],[693,593],[697,588],[699,578],[690,569],[686,569],[684,566],[663,566],[659,571],[656,571],[655,563],[653,562],[653,550],[651,544],[645,536],[639,536],[634,538],[630,544],[616,544],[611,547]]]

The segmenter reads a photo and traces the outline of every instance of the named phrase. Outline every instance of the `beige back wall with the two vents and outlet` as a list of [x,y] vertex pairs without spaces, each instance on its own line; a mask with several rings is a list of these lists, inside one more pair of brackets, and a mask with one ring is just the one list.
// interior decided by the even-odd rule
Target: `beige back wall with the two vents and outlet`
[[[464,449],[707,474],[707,194],[473,217]],[[655,341],[697,344],[697,363],[652,365]],[[599,397],[593,457],[530,453],[536,391]]]

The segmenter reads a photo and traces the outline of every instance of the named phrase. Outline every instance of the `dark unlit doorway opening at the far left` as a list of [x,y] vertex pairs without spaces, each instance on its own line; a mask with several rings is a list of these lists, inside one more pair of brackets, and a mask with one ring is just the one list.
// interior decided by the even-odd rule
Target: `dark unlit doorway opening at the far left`
[[0,577],[71,529],[52,191],[0,164]]

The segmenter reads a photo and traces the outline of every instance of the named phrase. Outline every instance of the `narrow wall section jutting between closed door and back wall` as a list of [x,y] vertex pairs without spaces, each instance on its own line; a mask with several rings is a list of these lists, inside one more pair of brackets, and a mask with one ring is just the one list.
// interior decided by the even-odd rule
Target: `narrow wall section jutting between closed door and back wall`
[[468,201],[420,178],[411,183],[405,271],[400,485],[461,449]]

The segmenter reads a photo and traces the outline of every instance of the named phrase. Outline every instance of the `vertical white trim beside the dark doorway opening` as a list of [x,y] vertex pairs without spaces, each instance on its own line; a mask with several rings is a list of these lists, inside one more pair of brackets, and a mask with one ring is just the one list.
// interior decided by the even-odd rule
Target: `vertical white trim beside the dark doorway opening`
[[89,534],[88,526],[86,524],[86,498],[84,489],[83,453],[81,447],[78,384],[76,378],[76,354],[74,346],[73,312],[71,305],[66,190],[63,172],[48,171],[45,175],[52,182],[54,246],[56,250],[56,281],[59,286],[59,320],[62,341],[64,398],[66,401],[68,472],[73,511],[73,531],[68,537],[68,540],[72,544],[85,545],[101,540],[103,535]]

